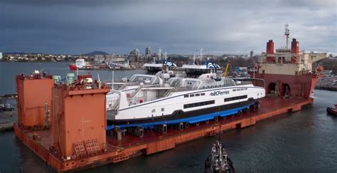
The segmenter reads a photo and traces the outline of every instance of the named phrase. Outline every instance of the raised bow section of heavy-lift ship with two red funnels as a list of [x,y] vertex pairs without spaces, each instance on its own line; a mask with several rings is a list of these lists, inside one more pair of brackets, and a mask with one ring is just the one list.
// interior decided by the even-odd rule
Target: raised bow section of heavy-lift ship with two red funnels
[[257,64],[252,78],[264,79],[267,94],[282,97],[297,96],[309,98],[319,77],[320,65],[312,66],[316,61],[326,58],[326,53],[299,51],[299,41],[293,38],[289,48],[289,29],[285,26],[286,46],[274,51],[274,42],[267,42],[267,51],[262,53],[262,60]]

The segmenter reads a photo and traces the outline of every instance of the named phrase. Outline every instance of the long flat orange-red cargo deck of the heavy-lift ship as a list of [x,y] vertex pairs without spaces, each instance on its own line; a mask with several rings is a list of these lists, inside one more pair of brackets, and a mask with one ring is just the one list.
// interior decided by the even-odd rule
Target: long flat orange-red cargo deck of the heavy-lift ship
[[313,101],[312,98],[262,98],[259,110],[241,116],[233,115],[220,118],[218,121],[200,122],[199,125],[190,125],[183,130],[168,128],[166,134],[145,130],[143,137],[127,134],[122,140],[115,140],[107,135],[107,149],[104,152],[76,159],[60,158],[53,152],[51,147],[53,146],[52,130],[21,130],[18,125],[14,125],[14,131],[16,137],[38,154],[50,167],[58,172],[66,172],[171,150],[184,142],[213,136],[226,130],[248,127],[269,117],[301,110],[303,105],[312,105]]

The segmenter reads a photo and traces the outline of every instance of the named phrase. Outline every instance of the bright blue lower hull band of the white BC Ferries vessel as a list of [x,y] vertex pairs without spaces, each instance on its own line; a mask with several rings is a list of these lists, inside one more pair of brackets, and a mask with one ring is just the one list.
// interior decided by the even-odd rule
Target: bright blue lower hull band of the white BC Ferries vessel
[[[252,105],[252,104],[250,104]],[[228,115],[233,115],[237,112],[239,112],[240,110],[243,110],[245,108],[248,108],[250,105],[245,105],[239,108],[234,108],[231,110],[223,110],[220,112],[213,112],[213,113],[209,113],[209,114],[205,114],[205,115],[199,115],[196,117],[187,117],[187,118],[183,118],[183,119],[178,119],[178,120],[170,120],[170,121],[161,121],[161,122],[147,122],[147,123],[139,123],[139,124],[129,124],[129,125],[117,125],[117,127],[119,128],[125,128],[125,127],[137,127],[137,126],[141,126],[141,127],[149,127],[149,126],[154,126],[154,125],[173,125],[173,124],[178,124],[180,122],[188,122],[188,123],[196,123],[196,122],[202,122],[202,121],[206,121],[206,120],[212,120],[214,117],[220,116],[220,117],[225,117]],[[108,125],[107,126],[107,130],[113,130],[114,129],[114,125]]]

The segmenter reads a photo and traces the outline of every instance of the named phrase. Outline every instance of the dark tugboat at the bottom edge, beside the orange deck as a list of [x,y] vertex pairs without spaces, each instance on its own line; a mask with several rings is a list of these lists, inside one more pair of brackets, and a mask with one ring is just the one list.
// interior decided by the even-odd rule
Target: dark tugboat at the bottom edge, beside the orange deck
[[220,140],[213,144],[211,154],[205,159],[205,173],[235,172],[232,161],[228,158]]

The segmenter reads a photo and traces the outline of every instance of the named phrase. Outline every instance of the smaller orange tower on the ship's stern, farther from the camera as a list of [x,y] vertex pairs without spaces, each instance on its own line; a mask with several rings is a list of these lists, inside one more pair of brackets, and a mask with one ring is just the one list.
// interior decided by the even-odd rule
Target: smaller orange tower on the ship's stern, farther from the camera
[[46,125],[51,107],[51,75],[16,75],[18,92],[18,125],[23,128]]

